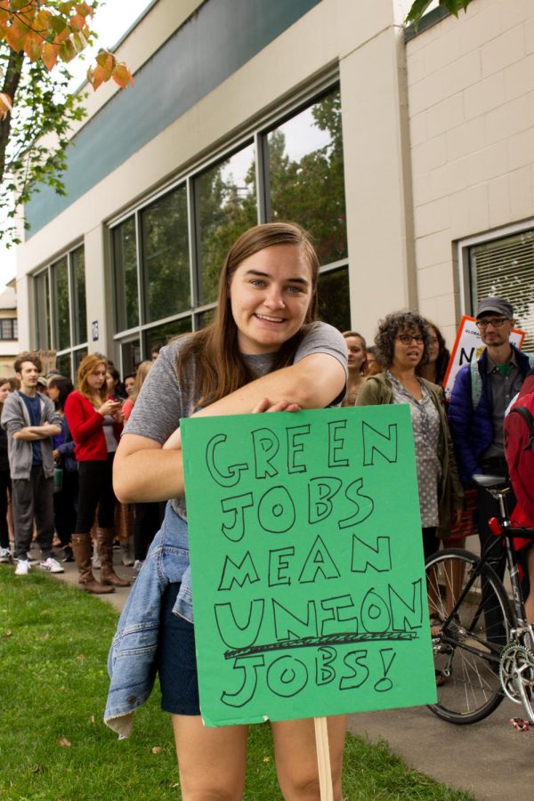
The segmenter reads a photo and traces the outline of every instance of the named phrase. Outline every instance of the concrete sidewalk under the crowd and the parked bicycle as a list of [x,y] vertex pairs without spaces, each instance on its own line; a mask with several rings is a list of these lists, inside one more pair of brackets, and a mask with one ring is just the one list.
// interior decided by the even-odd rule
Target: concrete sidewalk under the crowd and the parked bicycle
[[[122,578],[132,578],[132,568],[114,562]],[[62,565],[64,573],[54,578],[77,584],[73,562]],[[99,576],[99,570],[95,571]],[[117,588],[110,595],[97,595],[121,611],[130,591]],[[349,716],[349,731],[370,742],[386,740],[395,754],[420,773],[449,787],[468,790],[479,801],[512,801],[534,798],[534,729],[515,732],[508,723],[522,716],[522,708],[505,700],[479,724],[457,726],[439,720],[425,707],[390,709]]]

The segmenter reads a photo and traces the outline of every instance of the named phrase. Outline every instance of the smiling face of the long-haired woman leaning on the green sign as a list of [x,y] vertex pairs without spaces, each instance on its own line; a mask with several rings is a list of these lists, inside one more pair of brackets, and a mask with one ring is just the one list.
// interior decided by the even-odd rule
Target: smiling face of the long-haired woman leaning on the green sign
[[264,247],[231,277],[231,313],[239,351],[273,353],[303,326],[312,300],[312,271],[296,245]]

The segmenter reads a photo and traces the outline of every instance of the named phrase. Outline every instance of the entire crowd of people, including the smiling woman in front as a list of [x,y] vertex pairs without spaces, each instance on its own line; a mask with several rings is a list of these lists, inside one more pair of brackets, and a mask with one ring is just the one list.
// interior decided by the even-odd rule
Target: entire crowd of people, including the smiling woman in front
[[[317,321],[318,275],[317,254],[299,226],[255,226],[223,263],[213,321],[167,344],[124,384],[99,354],[82,360],[76,388],[61,376],[46,381],[32,353],[15,361],[16,390],[10,382],[0,384],[7,435],[0,440],[0,561],[13,556],[16,573],[26,575],[35,536],[41,567],[62,570],[53,556],[55,532],[63,560],[77,562],[81,587],[103,594],[126,586],[113,568],[119,498],[123,516],[134,521],[135,565],[142,570],[109,654],[105,720],[127,736],[132,712],[158,674],[188,797],[239,797],[247,727],[206,729],[200,717],[179,420],[340,404],[408,405],[421,537],[429,555],[441,544],[463,546],[475,530],[482,545],[490,536],[494,502],[474,489],[473,475],[506,474],[506,409],[534,365],[534,356],[510,342],[512,305],[485,298],[475,312],[485,347],[478,360],[460,368],[446,403],[441,384],[449,351],[439,328],[415,311],[392,312],[368,346],[357,331],[342,334]],[[58,467],[61,481],[54,481]],[[162,502],[165,520],[158,531]],[[95,556],[100,580],[93,573]],[[495,568],[502,574],[502,560]],[[529,611],[534,621],[534,595]],[[429,625],[440,623],[430,608]],[[284,796],[312,797],[312,721],[271,727]],[[328,718],[336,799],[342,797],[344,730],[344,716]]]

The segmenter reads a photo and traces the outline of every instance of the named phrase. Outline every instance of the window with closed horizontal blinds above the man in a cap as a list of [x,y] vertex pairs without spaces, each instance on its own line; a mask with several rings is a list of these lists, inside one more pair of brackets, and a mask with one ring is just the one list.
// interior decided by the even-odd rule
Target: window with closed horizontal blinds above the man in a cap
[[526,335],[523,350],[534,351],[534,229],[473,244],[468,258],[472,312],[484,297],[506,297]]

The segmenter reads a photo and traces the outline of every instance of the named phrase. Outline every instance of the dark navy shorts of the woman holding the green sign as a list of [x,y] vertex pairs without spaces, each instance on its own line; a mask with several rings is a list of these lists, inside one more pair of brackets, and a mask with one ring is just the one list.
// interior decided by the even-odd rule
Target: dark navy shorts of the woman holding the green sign
[[169,584],[163,596],[158,638],[161,708],[174,715],[200,715],[195,627],[173,614],[180,584]]

